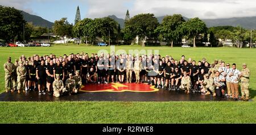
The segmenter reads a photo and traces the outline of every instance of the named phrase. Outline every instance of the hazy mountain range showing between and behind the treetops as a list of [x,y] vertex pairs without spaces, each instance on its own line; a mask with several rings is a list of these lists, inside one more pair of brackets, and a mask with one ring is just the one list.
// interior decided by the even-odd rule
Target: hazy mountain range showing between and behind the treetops
[[[40,16],[31,15],[27,12],[22,11],[22,15],[27,22],[32,22],[36,26],[49,27],[53,26],[53,23],[41,18]],[[117,18],[115,15],[109,15],[109,18],[114,19],[120,24],[120,27],[124,27],[125,20],[122,18]],[[159,23],[162,23],[164,16],[156,17]],[[188,20],[185,16],[183,16],[185,20]],[[247,29],[256,29],[256,16],[253,17],[243,17],[243,18],[226,18],[226,19],[202,19],[207,24],[207,27],[217,27],[217,26],[226,26],[230,25],[233,27],[237,27],[240,25],[243,28]]]

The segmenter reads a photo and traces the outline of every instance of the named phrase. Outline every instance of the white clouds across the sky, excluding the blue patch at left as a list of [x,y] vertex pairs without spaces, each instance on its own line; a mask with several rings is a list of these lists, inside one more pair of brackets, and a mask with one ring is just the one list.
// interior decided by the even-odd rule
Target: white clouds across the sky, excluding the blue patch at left
[[[29,7],[29,3],[32,1],[43,5],[46,3],[45,1],[61,0],[1,0],[0,5],[15,7],[35,14],[35,11]],[[74,1],[86,3],[88,9],[86,9],[86,15],[82,16],[84,18],[101,18],[108,15],[125,18],[127,9],[131,16],[141,13],[153,13],[155,16],[182,14],[187,18],[199,17],[201,19],[256,16],[255,0],[72,0],[68,2],[72,5]],[[67,17],[72,18],[72,16]]]

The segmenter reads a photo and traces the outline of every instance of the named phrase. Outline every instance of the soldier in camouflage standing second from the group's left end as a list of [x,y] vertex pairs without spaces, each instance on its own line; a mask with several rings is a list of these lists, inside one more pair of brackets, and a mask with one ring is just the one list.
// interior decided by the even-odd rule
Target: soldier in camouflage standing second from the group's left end
[[25,93],[25,81],[26,81],[27,71],[23,65],[23,62],[19,62],[19,67],[17,67],[16,73],[17,73],[18,93],[20,93],[21,91]]

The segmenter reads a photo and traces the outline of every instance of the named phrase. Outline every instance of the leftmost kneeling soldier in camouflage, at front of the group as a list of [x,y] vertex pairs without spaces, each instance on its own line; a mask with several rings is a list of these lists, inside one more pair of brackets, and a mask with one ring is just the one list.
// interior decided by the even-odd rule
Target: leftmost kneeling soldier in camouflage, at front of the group
[[53,97],[60,97],[60,93],[65,92],[63,81],[60,80],[60,75],[56,75],[56,80],[53,81]]

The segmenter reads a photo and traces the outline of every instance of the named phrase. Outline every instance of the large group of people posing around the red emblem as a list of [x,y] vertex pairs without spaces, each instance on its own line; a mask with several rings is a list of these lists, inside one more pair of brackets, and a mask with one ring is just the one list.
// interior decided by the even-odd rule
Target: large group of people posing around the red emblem
[[[5,68],[6,92],[38,90],[40,94],[59,97],[64,93],[77,93],[82,85],[119,83],[147,83],[164,90],[182,90],[185,93],[212,94],[238,99],[241,82],[241,99],[249,100],[250,71],[242,64],[205,58],[196,62],[185,56],[175,60],[172,56],[138,54],[77,53],[56,57],[50,55],[22,55],[15,63],[8,58]],[[46,87],[45,87],[46,86]]]

